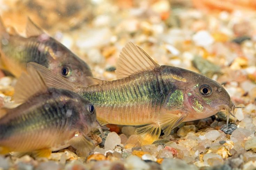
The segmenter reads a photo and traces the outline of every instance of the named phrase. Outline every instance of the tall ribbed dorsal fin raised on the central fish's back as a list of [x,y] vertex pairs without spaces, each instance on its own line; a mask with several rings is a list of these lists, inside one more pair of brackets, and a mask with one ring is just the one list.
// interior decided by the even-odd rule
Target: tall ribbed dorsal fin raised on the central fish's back
[[160,67],[148,54],[133,43],[127,43],[117,60],[117,78],[124,78]]

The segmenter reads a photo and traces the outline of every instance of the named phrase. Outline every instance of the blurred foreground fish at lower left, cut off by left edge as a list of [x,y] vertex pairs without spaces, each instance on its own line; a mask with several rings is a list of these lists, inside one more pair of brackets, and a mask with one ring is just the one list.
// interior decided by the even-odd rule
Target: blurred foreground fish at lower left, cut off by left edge
[[49,157],[71,145],[87,155],[94,147],[87,134],[94,128],[103,134],[94,105],[74,92],[47,87],[33,67],[27,72],[15,86],[14,100],[21,104],[0,118],[0,154]]

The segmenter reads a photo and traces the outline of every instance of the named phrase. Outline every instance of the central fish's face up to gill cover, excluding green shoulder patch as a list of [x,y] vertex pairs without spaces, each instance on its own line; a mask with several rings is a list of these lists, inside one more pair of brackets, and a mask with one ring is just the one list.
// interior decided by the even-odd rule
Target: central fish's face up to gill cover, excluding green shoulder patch
[[184,104],[189,111],[188,121],[207,118],[222,109],[229,112],[234,109],[230,95],[218,82],[192,71],[183,75],[186,79]]

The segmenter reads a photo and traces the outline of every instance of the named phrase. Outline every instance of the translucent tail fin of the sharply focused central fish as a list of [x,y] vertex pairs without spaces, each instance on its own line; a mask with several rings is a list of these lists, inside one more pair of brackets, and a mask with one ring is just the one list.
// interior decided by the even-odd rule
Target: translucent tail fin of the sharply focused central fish
[[[77,92],[79,88],[83,87],[83,85],[71,82],[68,79],[57,75],[52,70],[49,70],[48,68],[42,65],[39,65],[38,63],[29,62],[27,64],[27,67],[29,66],[33,67],[34,69],[40,72],[40,74],[45,80],[47,87],[63,88],[73,92]],[[86,79],[86,83],[87,83],[86,86],[95,84],[95,82],[92,82],[90,78],[87,78],[87,77],[84,77],[84,78]]]

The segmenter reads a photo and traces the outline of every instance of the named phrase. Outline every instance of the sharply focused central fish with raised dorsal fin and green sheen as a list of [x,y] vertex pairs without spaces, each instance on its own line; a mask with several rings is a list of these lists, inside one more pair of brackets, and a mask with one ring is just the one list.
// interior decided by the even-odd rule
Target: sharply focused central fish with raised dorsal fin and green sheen
[[232,114],[235,105],[218,82],[193,71],[158,65],[133,43],[127,43],[117,60],[117,79],[86,77],[87,86],[72,83],[45,67],[28,63],[49,87],[64,88],[90,100],[101,125],[139,126],[142,144],[169,135],[181,122],[210,117],[222,109]]

